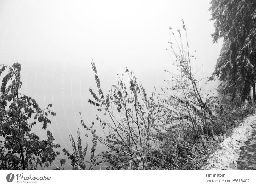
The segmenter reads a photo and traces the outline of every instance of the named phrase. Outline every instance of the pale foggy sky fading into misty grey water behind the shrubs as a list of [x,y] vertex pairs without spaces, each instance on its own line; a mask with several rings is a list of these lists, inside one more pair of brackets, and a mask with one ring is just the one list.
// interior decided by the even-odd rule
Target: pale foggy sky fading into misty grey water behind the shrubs
[[87,103],[89,87],[96,90],[92,58],[105,93],[125,67],[134,70],[148,93],[154,86],[160,91],[164,68],[173,68],[165,50],[169,26],[181,28],[183,18],[196,66],[203,65],[199,73],[213,72],[222,41],[212,43],[209,2],[2,0],[0,64],[21,63],[21,92],[41,108],[53,103],[50,128],[65,147],[68,135],[81,128],[79,112],[88,122],[97,114]]

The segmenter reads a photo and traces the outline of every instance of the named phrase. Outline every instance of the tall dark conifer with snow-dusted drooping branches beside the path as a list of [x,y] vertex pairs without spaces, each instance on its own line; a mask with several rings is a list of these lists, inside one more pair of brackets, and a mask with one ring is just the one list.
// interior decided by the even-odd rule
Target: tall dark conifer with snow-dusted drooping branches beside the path
[[223,46],[210,80],[217,77],[222,93],[242,101],[250,100],[251,86],[255,95],[256,2],[253,0],[212,0],[213,42],[223,38]]

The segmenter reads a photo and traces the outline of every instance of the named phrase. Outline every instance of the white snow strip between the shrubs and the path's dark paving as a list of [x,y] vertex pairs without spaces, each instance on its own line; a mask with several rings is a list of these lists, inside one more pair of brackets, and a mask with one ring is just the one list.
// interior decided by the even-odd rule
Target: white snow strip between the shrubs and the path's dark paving
[[256,114],[247,117],[244,124],[233,129],[232,136],[220,143],[220,148],[213,153],[203,167],[205,170],[237,170],[237,160],[241,145],[251,136],[253,123],[256,122]]

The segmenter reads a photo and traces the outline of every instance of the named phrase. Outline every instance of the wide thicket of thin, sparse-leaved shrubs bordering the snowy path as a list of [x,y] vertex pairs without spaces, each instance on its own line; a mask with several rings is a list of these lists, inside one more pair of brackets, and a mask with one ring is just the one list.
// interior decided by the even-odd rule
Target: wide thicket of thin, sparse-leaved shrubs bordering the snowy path
[[[170,49],[172,59],[180,74],[171,74],[165,80],[170,85],[150,97],[132,71],[118,74],[117,85],[108,94],[103,94],[96,66],[97,93],[89,89],[93,100],[88,102],[103,114],[97,115],[97,122],[82,126],[92,135],[95,152],[96,144],[108,148],[105,152],[91,156],[91,166],[102,162],[110,170],[199,170],[216,148],[216,142],[223,140],[231,128],[236,127],[238,118],[249,112],[248,105],[223,104],[216,96],[203,94],[201,82],[192,69],[187,30],[183,22],[179,38],[170,28]],[[171,38],[170,37],[170,38]],[[173,41],[174,42],[173,42]],[[129,85],[124,83],[128,76]],[[236,117],[234,117],[236,116]],[[95,124],[99,124],[104,135],[98,135]],[[86,135],[88,137],[88,135]]]

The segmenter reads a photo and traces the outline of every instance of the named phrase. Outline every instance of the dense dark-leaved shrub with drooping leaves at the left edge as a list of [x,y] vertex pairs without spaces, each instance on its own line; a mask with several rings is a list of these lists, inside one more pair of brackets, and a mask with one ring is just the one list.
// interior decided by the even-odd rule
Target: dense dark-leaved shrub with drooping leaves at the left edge
[[[7,72],[6,72],[7,71]],[[51,121],[48,114],[52,104],[40,109],[35,99],[19,92],[21,65],[1,65],[0,75],[3,77],[0,95],[0,169],[1,170],[36,170],[51,165],[60,152],[55,151],[60,145],[54,143],[52,133],[47,131],[47,139],[40,140],[31,132],[37,122],[42,129],[47,128]]]

